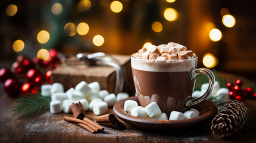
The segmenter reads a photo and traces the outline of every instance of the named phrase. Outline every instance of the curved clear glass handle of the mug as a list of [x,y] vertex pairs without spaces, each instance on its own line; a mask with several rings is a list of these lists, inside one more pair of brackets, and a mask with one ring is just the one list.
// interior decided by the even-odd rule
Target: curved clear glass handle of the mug
[[209,78],[209,86],[201,97],[198,98],[192,98],[192,96],[187,97],[186,101],[186,107],[190,107],[192,105],[198,104],[199,102],[205,100],[206,97],[208,97],[212,90],[214,89],[214,83],[215,83],[215,76],[212,73],[211,70],[206,69],[206,68],[199,68],[199,69],[191,69],[190,70],[190,79],[194,79],[198,74],[203,73]]

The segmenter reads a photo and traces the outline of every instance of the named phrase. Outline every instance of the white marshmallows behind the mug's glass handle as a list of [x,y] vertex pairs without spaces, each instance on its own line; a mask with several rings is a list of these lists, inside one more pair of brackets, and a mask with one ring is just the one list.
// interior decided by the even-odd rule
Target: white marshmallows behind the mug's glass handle
[[[201,86],[201,91],[194,91],[192,94],[192,97],[194,98],[201,97],[207,90],[208,86],[209,86],[209,83],[203,83]],[[214,102],[214,104],[216,105],[227,102],[230,100],[229,89],[220,88],[220,83],[215,81],[214,89],[212,90],[211,94],[206,98],[206,100]]]

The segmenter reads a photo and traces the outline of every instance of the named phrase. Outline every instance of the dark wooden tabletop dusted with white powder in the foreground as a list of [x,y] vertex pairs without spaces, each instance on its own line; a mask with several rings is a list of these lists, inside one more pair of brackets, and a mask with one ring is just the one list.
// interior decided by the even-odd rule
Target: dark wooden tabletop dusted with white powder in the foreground
[[[232,77],[230,82],[237,79]],[[40,116],[18,120],[10,113],[15,100],[8,97],[0,85],[0,142],[256,142],[255,128],[243,128],[227,139],[215,138],[210,130],[211,120],[183,130],[141,130],[125,123],[125,130],[104,126],[104,133],[92,134],[63,120],[63,116],[72,114],[46,111]],[[249,112],[255,111],[256,100],[244,100],[243,103]],[[88,111],[87,117],[95,120],[96,116]]]

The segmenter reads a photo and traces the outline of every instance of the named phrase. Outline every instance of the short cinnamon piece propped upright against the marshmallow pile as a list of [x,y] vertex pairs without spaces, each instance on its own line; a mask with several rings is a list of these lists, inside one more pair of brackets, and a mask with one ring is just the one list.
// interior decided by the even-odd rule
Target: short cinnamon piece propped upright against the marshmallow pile
[[81,120],[84,119],[85,111],[84,111],[84,107],[82,107],[81,102],[78,102],[76,104],[73,103],[71,105],[71,110],[72,110],[74,118],[81,119]]

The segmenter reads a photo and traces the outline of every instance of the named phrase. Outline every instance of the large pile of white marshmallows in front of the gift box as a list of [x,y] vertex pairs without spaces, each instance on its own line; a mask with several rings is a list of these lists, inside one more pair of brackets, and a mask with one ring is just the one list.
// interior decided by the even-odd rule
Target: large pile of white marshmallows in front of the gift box
[[51,113],[72,113],[72,103],[81,102],[84,110],[91,110],[96,115],[109,113],[109,107],[112,107],[117,101],[128,98],[125,92],[117,94],[109,94],[106,90],[100,91],[100,84],[92,82],[88,84],[82,81],[76,85],[75,89],[70,88],[64,92],[61,83],[53,83],[53,85],[42,85],[41,95],[51,97],[50,112]]

